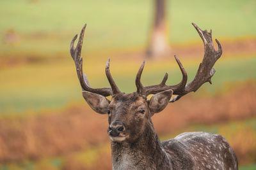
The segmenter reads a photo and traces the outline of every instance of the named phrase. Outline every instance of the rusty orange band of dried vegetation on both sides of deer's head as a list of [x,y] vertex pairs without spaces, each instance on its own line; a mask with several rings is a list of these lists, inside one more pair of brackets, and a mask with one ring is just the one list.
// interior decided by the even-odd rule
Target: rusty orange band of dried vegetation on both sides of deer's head
[[[215,124],[255,117],[255,103],[255,82],[250,81],[213,97],[183,97],[182,101],[169,104],[162,113],[154,115],[153,121],[158,134],[170,134],[190,124]],[[48,111],[47,114],[1,118],[0,162],[36,160],[86,149],[87,146],[108,141],[107,127],[106,115],[94,113],[85,104],[64,111]],[[248,148],[233,143],[237,154],[248,151]],[[100,157],[107,156],[103,154]],[[107,160],[110,160],[110,155],[108,157]],[[79,164],[72,159],[70,162]],[[64,164],[63,169],[67,169],[68,165]],[[110,167],[109,161],[105,167]]]

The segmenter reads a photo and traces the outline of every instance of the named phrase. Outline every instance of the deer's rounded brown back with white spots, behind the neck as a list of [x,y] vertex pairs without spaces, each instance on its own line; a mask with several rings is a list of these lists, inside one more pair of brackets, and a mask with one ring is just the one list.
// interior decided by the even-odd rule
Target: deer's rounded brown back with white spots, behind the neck
[[237,169],[227,140],[208,132],[185,132],[161,143],[173,169]]

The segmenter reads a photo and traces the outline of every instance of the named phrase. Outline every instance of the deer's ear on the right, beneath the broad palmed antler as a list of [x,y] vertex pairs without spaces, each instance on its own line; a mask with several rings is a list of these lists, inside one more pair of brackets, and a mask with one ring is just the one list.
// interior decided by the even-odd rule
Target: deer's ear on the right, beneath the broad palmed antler
[[154,115],[154,113],[159,113],[160,111],[164,110],[169,103],[172,94],[173,90],[165,90],[152,96],[149,101],[149,109],[151,114]]

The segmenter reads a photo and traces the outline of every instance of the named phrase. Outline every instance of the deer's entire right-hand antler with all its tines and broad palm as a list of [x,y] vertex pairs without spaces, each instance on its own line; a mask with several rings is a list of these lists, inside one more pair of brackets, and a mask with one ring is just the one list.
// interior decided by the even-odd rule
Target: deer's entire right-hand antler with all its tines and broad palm
[[211,77],[215,73],[215,69],[213,68],[216,60],[218,60],[221,56],[222,53],[222,48],[220,45],[220,42],[215,39],[216,43],[218,44],[218,50],[214,50],[214,45],[212,43],[212,31],[207,32],[202,31],[196,24],[192,23],[194,25],[196,31],[202,38],[204,42],[204,59],[200,63],[200,66],[198,67],[198,71],[196,73],[195,78],[190,81],[188,84],[188,75],[186,73],[186,70],[182,66],[181,62],[179,59],[175,57],[177,63],[179,64],[180,71],[182,72],[182,81],[180,81],[179,84],[169,86],[166,85],[166,80],[168,78],[168,74],[166,73],[164,75],[164,78],[162,82],[159,85],[151,85],[147,87],[143,87],[141,84],[140,78],[141,78],[141,73],[143,71],[143,67],[145,65],[145,61],[141,64],[141,67],[137,73],[136,76],[136,87],[137,87],[137,92],[143,96],[148,96],[149,94],[157,94],[158,92],[162,92],[164,90],[173,90],[173,94],[176,94],[178,96],[173,97],[172,101],[170,102],[175,102],[180,99],[180,97],[188,94],[189,92],[196,92],[201,85],[203,85],[205,82],[211,83]]

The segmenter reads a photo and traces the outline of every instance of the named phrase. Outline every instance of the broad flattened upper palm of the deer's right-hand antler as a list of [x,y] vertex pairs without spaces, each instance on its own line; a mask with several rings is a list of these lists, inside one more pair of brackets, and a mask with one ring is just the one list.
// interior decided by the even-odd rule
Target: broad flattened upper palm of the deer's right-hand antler
[[205,82],[211,82],[213,74],[216,72],[213,68],[215,62],[220,58],[222,54],[222,48],[220,42],[215,39],[218,44],[218,50],[214,50],[214,45],[212,42],[212,31],[207,32],[207,30],[202,31],[195,23],[192,23],[196,31],[202,38],[204,42],[204,59],[198,67],[195,78],[186,85],[185,90],[179,96],[176,96],[170,102],[175,102],[180,99],[180,97],[188,94],[189,92],[196,92]]

